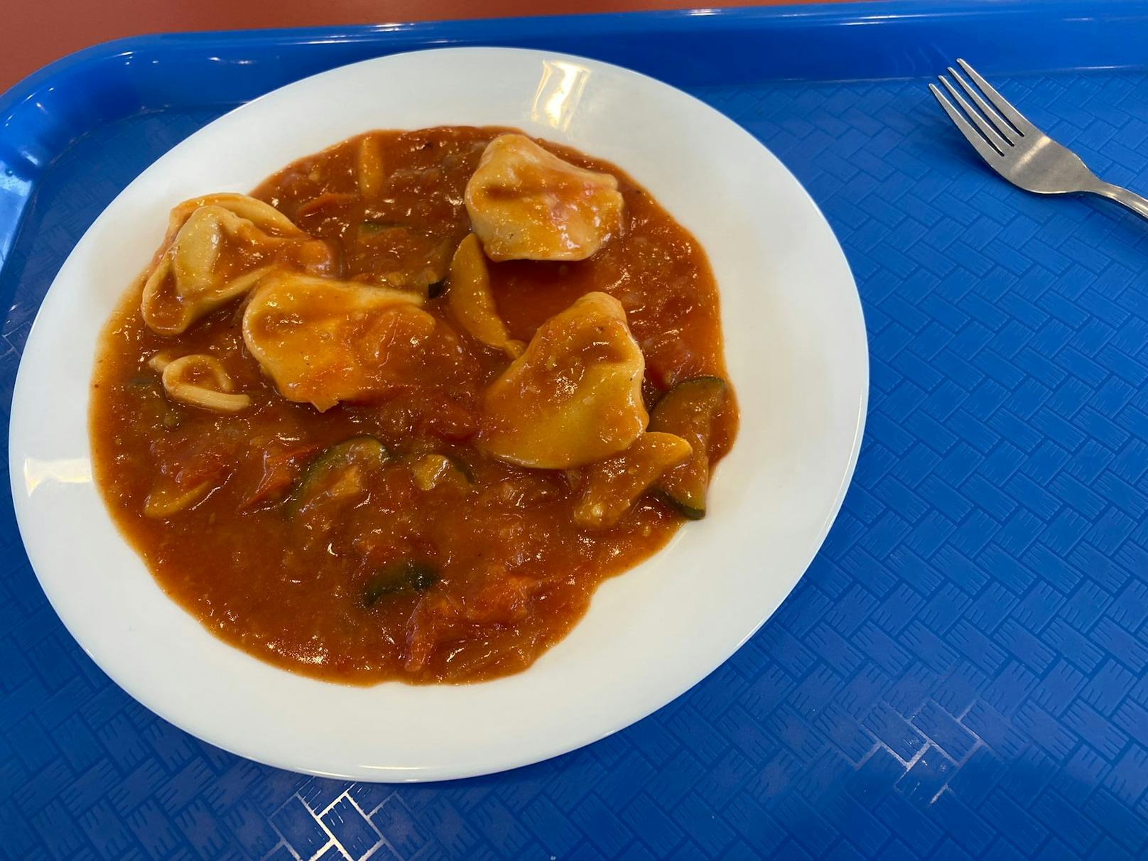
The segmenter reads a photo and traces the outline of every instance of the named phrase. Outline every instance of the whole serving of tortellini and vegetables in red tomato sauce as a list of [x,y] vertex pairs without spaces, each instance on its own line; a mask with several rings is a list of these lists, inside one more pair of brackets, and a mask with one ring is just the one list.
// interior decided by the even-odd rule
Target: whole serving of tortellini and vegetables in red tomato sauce
[[704,513],[736,428],[697,241],[616,166],[503,129],[371,132],[179,204],[91,401],[163,589],[359,684],[528,667]]

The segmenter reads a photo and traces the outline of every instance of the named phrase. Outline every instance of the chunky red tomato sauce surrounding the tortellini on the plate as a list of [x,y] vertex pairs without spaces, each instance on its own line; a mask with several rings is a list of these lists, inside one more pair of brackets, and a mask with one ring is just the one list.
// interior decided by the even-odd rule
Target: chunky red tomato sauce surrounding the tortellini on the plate
[[[289,165],[253,196],[326,249],[280,254],[278,265],[302,267],[318,249],[329,254],[325,276],[434,295],[471,230],[467,180],[499,131],[372,132],[366,192],[363,138]],[[724,378],[718,289],[698,243],[618,168],[545,147],[616,177],[625,215],[589,259],[489,264],[510,338],[529,342],[548,318],[598,290],[626,311],[645,358],[647,408],[682,380]],[[239,271],[243,254],[242,242],[227,245],[218,265]],[[475,442],[482,394],[511,358],[466,334],[447,294],[424,308],[449,338],[419,355],[406,383],[320,412],[286,400],[253,358],[241,329],[247,298],[180,334],[158,334],[141,317],[141,289],[113,316],[95,364],[96,480],[168,594],[256,657],[354,683],[514,673],[571,629],[603,579],[657,551],[682,523],[643,494],[616,525],[585,528],[573,517],[585,484],[577,470],[484,452]],[[224,413],[172,400],[149,364],[156,354],[216,357],[249,405]],[[207,378],[192,373],[193,382]],[[729,396],[706,437],[711,463],[736,425]],[[358,460],[339,473],[354,458],[338,447],[358,437],[369,437],[355,443]],[[184,492],[194,498],[180,507]]]

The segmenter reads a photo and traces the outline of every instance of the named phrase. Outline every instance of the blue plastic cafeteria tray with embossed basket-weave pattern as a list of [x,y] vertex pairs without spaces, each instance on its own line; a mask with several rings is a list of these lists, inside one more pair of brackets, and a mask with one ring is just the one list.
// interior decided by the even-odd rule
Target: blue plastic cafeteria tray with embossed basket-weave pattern
[[52,613],[6,502],[0,856],[1143,858],[1148,225],[988,174],[923,78],[967,57],[1143,192],[1148,3],[894,1],[83,52],[0,98],[9,396],[56,269],[156,156],[293,79],[443,44],[650,72],[806,184],[872,352],[868,434],[824,549],[734,659],[639,724],[518,771],[394,788],[254,765],[129,699]]

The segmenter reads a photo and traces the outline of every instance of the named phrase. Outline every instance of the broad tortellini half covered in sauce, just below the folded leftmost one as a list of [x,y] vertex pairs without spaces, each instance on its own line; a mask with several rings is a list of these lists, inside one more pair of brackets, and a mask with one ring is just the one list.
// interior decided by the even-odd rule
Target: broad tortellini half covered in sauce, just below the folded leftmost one
[[284,397],[323,411],[417,377],[440,325],[422,302],[418,293],[277,272],[248,301],[243,342]]

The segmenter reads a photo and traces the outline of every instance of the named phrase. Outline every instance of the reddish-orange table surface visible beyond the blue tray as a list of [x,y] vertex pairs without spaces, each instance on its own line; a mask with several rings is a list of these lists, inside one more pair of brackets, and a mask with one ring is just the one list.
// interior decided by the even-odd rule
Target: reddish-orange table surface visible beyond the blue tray
[[[802,0],[796,0],[798,2]],[[794,2],[794,0],[786,0]],[[10,0],[3,18],[0,92],[79,48],[140,33],[378,24],[513,15],[774,6],[777,0]]]

